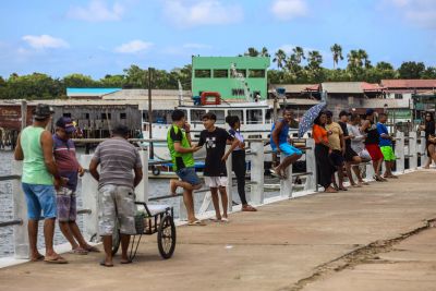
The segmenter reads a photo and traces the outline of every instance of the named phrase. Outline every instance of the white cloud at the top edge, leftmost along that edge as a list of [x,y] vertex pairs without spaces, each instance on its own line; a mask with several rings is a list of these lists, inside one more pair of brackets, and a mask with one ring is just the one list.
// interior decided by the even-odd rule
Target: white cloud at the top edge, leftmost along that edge
[[124,8],[116,2],[111,7],[102,0],[92,0],[87,7],[72,7],[66,16],[87,22],[120,21]]

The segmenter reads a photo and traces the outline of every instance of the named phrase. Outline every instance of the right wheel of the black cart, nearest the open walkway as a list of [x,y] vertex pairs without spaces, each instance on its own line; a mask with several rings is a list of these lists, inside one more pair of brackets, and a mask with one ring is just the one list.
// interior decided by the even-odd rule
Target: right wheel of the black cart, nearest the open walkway
[[162,258],[170,258],[175,248],[175,226],[170,215],[165,215],[157,231],[157,246]]

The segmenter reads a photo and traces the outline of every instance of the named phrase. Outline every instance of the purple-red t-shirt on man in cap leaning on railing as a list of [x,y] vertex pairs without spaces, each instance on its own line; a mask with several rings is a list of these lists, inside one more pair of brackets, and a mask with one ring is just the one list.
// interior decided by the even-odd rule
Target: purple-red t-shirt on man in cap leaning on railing
[[68,178],[66,187],[75,191],[77,187],[78,161],[75,157],[75,146],[71,138],[64,141],[53,135],[53,156],[59,174]]

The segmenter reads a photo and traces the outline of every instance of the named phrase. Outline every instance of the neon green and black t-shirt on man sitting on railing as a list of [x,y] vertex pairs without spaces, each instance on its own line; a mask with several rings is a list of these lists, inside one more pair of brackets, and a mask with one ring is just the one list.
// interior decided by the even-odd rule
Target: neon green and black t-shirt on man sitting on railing
[[181,154],[175,151],[174,143],[180,143],[183,148],[190,148],[190,142],[186,134],[177,125],[171,125],[167,134],[168,149],[171,154],[172,169],[174,172],[183,168],[192,168],[195,166],[194,156],[192,153]]

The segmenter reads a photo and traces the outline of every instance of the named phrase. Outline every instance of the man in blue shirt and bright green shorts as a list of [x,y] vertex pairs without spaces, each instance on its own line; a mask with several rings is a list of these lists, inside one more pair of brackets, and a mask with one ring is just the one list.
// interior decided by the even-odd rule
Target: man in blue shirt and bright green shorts
[[383,157],[385,159],[385,178],[398,178],[397,175],[392,174],[392,167],[396,161],[396,156],[393,154],[392,148],[392,140],[393,137],[389,135],[388,129],[386,128],[385,123],[388,120],[388,116],[386,113],[378,114],[378,123],[377,123],[377,131],[380,135],[380,141],[378,145],[380,146],[380,150],[383,153]]

